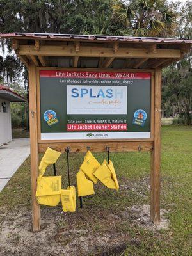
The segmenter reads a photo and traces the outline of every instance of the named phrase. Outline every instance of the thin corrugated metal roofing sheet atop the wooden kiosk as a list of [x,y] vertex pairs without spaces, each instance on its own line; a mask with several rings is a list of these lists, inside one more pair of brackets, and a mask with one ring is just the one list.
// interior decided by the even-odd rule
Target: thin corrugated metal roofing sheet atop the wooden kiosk
[[192,44],[192,40],[175,38],[156,38],[156,37],[134,37],[134,36],[104,36],[104,35],[73,35],[73,34],[54,34],[54,33],[8,33],[0,34],[1,38],[35,38],[46,40],[85,40],[85,41],[108,41],[108,42],[150,42],[166,44]]

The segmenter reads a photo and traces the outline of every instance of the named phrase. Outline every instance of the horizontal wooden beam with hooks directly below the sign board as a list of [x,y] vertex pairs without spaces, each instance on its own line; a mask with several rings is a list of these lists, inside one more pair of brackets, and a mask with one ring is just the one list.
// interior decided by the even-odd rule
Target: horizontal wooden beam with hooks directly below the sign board
[[49,143],[38,143],[38,151],[45,152],[47,147],[54,148],[60,152],[65,152],[66,147],[70,144],[70,152],[86,152],[87,145],[94,152],[106,152],[106,145],[110,147],[111,152],[131,152],[138,151],[151,151],[153,147],[153,141],[86,141],[86,142],[50,142]]

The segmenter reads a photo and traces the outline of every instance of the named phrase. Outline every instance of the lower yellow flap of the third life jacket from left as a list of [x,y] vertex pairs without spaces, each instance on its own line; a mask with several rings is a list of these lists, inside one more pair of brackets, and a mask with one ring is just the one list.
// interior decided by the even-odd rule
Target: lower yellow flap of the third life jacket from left
[[77,172],[77,191],[78,196],[88,196],[95,194],[93,182],[86,179],[84,172],[81,170]]

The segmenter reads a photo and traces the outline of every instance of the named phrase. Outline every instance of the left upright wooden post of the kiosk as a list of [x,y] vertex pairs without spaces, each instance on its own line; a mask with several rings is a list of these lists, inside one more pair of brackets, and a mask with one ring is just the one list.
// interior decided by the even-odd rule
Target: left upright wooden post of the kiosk
[[40,230],[40,205],[35,198],[36,179],[38,177],[38,141],[37,141],[37,109],[36,109],[36,67],[29,64],[29,125],[31,143],[31,193],[33,231]]

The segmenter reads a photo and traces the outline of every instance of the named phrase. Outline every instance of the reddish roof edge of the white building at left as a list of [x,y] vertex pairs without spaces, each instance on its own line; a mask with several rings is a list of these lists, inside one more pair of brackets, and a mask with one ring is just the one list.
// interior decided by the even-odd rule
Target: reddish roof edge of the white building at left
[[22,97],[16,92],[13,92],[10,88],[7,86],[4,86],[3,84],[0,84],[0,98],[3,98],[5,100],[9,100],[11,102],[26,102],[27,99]]

